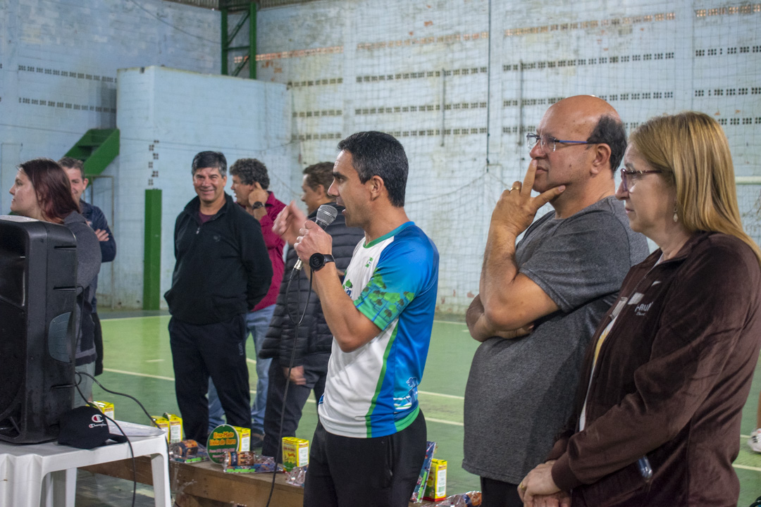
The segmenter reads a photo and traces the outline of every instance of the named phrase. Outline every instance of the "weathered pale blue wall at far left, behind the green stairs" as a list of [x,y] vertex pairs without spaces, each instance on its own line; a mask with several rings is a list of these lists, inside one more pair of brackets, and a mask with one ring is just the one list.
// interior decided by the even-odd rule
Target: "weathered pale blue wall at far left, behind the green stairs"
[[[88,128],[116,126],[119,68],[167,65],[218,73],[219,30],[218,12],[163,0],[0,2],[0,212],[10,207],[8,189],[18,163],[57,160]],[[107,217],[112,211],[119,217],[126,204],[116,199],[116,209],[111,205],[111,190],[121,185],[113,179],[118,164],[117,159],[103,173],[112,179],[98,179],[88,193]],[[111,227],[118,265],[132,231],[120,230],[118,223]],[[111,304],[111,280],[111,266],[103,265],[101,306]]]

